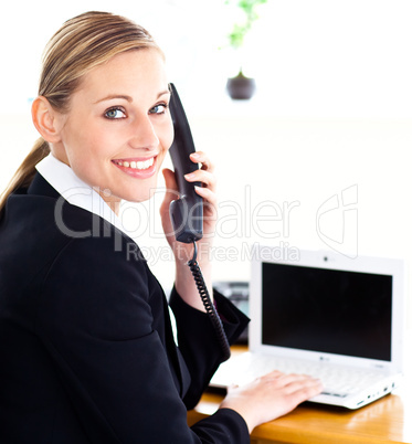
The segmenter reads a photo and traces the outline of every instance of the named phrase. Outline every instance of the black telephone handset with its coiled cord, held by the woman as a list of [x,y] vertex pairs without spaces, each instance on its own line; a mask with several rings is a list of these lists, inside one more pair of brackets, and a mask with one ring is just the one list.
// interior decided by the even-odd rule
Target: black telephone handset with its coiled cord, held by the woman
[[183,177],[199,168],[189,158],[190,154],[196,151],[194,142],[178,92],[172,83],[169,84],[169,88],[171,93],[169,109],[175,127],[175,139],[169,151],[179,188],[179,199],[170,203],[170,220],[176,240],[183,243],[193,243],[194,253],[188,265],[221,343],[223,360],[226,360],[231,355],[228,338],[222,321],[211,302],[202,272],[197,262],[196,242],[203,236],[203,200],[196,192],[194,186],[200,186],[201,183],[188,182]]

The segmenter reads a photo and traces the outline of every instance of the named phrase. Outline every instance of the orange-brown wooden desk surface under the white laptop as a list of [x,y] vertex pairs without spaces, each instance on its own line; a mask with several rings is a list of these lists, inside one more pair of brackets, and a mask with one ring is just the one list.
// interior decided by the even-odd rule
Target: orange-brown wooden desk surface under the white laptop
[[[205,393],[188,413],[189,424],[215,412],[222,399],[223,395]],[[412,387],[405,381],[397,394],[356,411],[304,403],[292,413],[256,427],[251,443],[412,443]]]

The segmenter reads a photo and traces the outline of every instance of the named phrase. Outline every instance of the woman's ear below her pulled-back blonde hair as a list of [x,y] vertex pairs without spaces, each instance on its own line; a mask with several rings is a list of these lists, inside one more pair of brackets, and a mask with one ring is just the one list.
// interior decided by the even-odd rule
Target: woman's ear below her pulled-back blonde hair
[[44,140],[51,144],[61,140],[62,115],[52,107],[45,97],[39,96],[34,99],[31,114],[33,124]]

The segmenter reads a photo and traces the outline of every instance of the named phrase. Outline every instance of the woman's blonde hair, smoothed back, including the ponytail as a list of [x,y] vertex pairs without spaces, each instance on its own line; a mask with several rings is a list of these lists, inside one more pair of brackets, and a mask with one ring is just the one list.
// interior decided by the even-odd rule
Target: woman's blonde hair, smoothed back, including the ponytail
[[[92,11],[67,20],[44,50],[39,95],[54,109],[66,113],[71,95],[86,73],[116,54],[145,47],[161,53],[144,28],[124,17]],[[41,137],[0,195],[0,215],[7,198],[17,189],[30,186],[36,163],[49,154],[49,144]]]

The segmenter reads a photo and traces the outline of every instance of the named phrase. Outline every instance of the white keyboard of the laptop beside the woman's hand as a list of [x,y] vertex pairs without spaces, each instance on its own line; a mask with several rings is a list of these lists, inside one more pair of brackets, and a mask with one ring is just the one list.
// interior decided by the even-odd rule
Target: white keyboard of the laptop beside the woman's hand
[[271,356],[253,356],[252,358],[250,353],[236,359],[240,358],[246,361],[242,364],[245,366],[245,370],[235,378],[234,383],[244,383],[273,370],[279,370],[284,373],[310,374],[321,381],[323,394],[345,398],[352,392],[359,392],[366,385],[370,387],[382,378],[381,373],[373,370],[336,366],[329,362],[300,361]]

